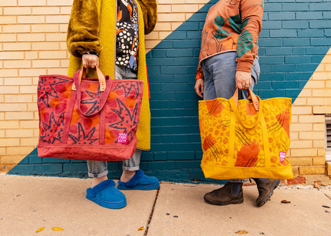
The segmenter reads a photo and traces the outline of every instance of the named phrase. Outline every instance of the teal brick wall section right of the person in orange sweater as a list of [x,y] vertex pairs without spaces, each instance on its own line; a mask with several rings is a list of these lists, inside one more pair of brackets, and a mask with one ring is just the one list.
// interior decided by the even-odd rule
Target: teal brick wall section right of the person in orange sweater
[[297,98],[330,49],[330,12],[330,1],[265,1],[259,96]]

